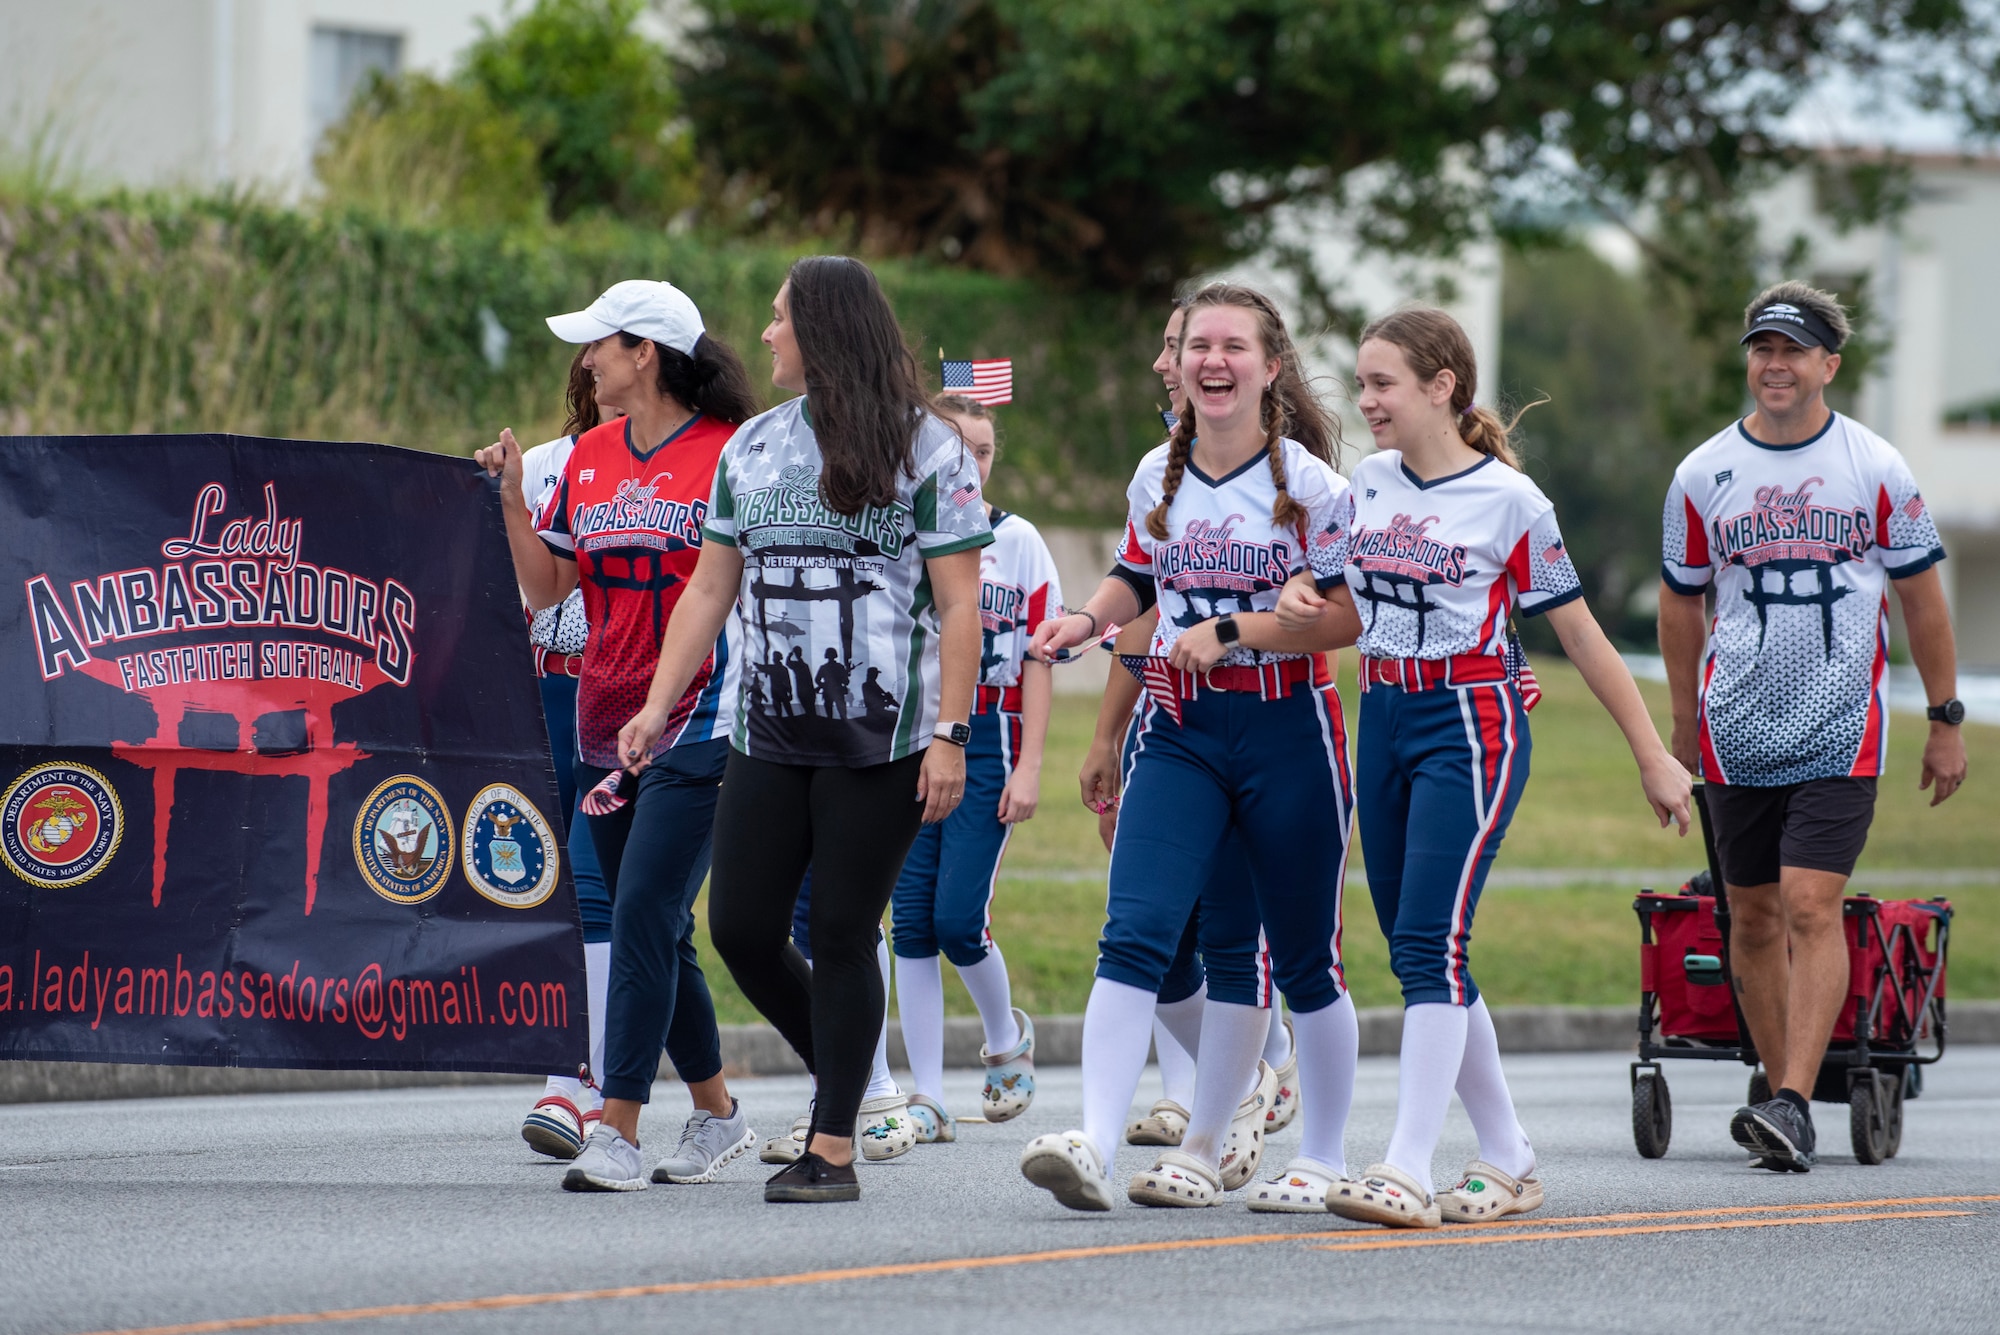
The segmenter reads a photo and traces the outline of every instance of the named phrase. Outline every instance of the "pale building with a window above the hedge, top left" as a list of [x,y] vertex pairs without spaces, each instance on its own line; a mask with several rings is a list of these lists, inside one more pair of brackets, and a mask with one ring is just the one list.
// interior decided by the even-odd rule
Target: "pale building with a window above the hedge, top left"
[[0,144],[86,184],[298,194],[372,72],[444,74],[504,0],[0,0]]

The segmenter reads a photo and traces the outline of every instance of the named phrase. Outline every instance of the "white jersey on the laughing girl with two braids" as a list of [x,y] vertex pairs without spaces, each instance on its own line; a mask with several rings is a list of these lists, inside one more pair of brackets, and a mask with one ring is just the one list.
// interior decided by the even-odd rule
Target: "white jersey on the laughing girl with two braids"
[[[1168,536],[1162,540],[1146,530],[1146,516],[1166,494],[1168,446],[1158,446],[1140,460],[1126,490],[1126,536],[1118,546],[1118,562],[1134,574],[1150,576],[1160,592],[1154,654],[1164,656],[1180,632],[1210,618],[1272,612],[1284,582],[1308,566],[1322,590],[1340,580],[1354,518],[1348,482],[1296,440],[1286,440],[1282,450],[1286,492],[1306,508],[1304,524],[1272,524],[1270,506],[1278,488],[1270,478],[1270,460],[1260,450],[1224,478],[1210,478],[1190,462],[1166,514]],[[1236,646],[1222,662],[1256,668],[1282,658],[1306,656]]]

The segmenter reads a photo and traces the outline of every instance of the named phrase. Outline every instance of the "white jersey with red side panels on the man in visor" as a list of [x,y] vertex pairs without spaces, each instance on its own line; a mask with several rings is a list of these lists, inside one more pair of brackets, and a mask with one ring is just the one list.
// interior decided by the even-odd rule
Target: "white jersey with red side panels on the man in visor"
[[1832,414],[1768,446],[1742,422],[1682,460],[1660,576],[1716,592],[1702,664],[1702,775],[1778,787],[1880,775],[1888,580],[1944,560],[1902,454]]

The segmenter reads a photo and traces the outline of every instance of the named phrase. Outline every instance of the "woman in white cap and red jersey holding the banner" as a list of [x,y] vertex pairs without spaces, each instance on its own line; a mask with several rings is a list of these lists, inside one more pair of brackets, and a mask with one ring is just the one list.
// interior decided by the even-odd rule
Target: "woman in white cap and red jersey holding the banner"
[[652,1181],[710,1181],[754,1143],[722,1079],[692,915],[708,875],[728,755],[734,628],[718,626],[702,646],[666,725],[636,763],[618,755],[618,727],[646,699],[666,622],[702,552],[716,460],[756,402],[742,362],[702,330],[702,314],[672,284],[614,284],[588,310],[552,316],[548,328],[586,346],[598,402],[628,414],[578,438],[562,482],[534,516],[522,500],[512,432],[480,454],[486,470],[502,478],[508,546],[528,604],[560,604],[580,582],[590,614],[576,695],[576,777],[578,787],[592,789],[584,809],[612,893],[612,969],[604,1117],[562,1185],[646,1185],[638,1115],[652,1093],[662,1039],[694,1115]]

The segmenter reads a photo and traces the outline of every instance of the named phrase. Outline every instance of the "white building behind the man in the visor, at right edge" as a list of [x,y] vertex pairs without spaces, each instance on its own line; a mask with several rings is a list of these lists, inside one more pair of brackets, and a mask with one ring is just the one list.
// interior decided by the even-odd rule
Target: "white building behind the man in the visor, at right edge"
[[[1914,204],[1890,228],[1842,234],[1818,176],[1800,172],[1758,202],[1768,238],[1802,234],[1812,272],[1850,288],[1866,276],[1892,340],[1856,416],[1902,450],[1950,556],[1958,658],[2000,668],[2000,158],[1914,158]],[[1984,408],[1984,412],[1980,412]]]

